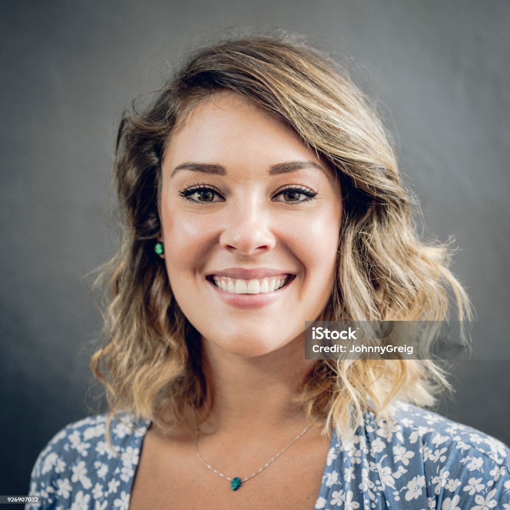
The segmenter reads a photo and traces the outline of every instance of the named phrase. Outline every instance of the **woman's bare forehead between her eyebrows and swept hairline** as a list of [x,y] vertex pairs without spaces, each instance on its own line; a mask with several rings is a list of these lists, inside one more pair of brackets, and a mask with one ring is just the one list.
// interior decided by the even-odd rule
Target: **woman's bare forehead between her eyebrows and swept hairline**
[[[319,162],[283,121],[235,92],[218,92],[188,107],[165,147],[164,165],[184,161],[256,159],[261,165],[303,157]],[[219,161],[217,161],[219,162]]]

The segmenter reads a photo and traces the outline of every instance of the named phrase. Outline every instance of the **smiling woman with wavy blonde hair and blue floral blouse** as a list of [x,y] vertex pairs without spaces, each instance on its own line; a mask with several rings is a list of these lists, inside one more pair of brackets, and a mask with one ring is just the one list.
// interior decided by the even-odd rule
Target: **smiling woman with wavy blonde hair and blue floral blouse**
[[282,37],[198,50],[125,114],[114,176],[123,237],[91,360],[111,413],[41,452],[30,507],[510,503],[510,451],[421,409],[447,387],[431,361],[304,359],[305,320],[443,320],[448,287],[471,317],[333,62]]

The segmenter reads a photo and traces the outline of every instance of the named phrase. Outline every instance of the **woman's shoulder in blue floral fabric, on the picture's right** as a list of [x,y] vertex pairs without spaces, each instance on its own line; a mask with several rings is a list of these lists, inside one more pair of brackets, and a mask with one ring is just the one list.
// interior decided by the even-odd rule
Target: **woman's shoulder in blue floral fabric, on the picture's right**
[[362,507],[510,510],[510,449],[472,427],[396,402],[384,419],[367,412],[350,440],[334,439],[324,507],[345,499]]

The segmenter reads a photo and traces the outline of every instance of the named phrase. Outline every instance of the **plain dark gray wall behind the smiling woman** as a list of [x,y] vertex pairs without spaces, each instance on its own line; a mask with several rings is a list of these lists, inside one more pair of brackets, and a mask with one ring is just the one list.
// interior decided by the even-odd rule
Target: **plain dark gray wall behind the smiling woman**
[[[25,494],[36,455],[87,414],[100,327],[93,268],[116,122],[182,48],[226,27],[282,27],[349,57],[379,100],[428,233],[479,317],[508,310],[510,4],[216,0],[3,2],[0,16],[0,494]],[[440,411],[510,443],[510,361],[453,368]],[[92,402],[89,398],[87,401]]]

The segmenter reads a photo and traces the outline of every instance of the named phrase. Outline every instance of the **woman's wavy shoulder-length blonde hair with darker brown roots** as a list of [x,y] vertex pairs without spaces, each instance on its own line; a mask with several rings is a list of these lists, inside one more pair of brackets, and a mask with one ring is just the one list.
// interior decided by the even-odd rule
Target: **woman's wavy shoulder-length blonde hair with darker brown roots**
[[[336,282],[324,320],[448,318],[471,305],[448,269],[446,244],[422,242],[387,132],[367,97],[335,61],[288,36],[238,37],[195,50],[154,102],[125,112],[113,179],[122,218],[118,251],[103,267],[108,341],[91,368],[106,386],[110,419],[120,410],[165,428],[189,411],[212,409],[200,338],[179,308],[165,265],[154,251],[160,234],[161,161],[165,143],[197,102],[235,91],[292,127],[336,168],[344,200]],[[431,360],[316,361],[296,402],[310,419],[351,434],[367,410],[384,416],[396,398],[432,405],[449,388]]]

